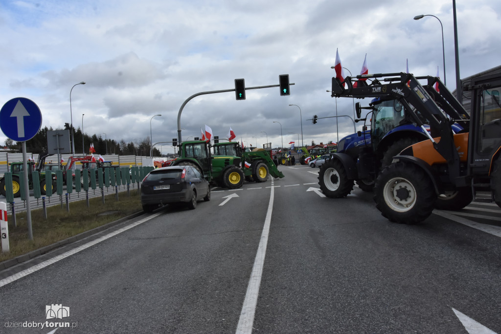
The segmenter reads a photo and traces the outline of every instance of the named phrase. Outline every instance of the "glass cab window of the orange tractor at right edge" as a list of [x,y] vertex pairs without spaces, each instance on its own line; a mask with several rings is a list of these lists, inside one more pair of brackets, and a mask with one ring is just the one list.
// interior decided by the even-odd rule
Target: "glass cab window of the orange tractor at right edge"
[[480,96],[479,140],[477,152],[490,155],[501,145],[501,104],[499,101],[500,87],[483,90]]

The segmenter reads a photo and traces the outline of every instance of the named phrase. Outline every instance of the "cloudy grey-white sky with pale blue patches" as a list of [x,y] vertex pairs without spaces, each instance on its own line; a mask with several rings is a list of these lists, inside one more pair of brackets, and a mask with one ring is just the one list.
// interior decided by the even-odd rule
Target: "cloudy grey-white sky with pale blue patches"
[[[501,65],[501,2],[456,2],[461,78]],[[226,137],[262,146],[338,140],[353,132],[336,115],[330,97],[336,49],[342,65],[359,74],[365,54],[369,73],[443,74],[455,89],[452,0],[2,0],[0,2],[0,103],[26,97],[38,104],[42,126],[71,122],[88,134],[139,142],[176,137],[177,114],[191,95],[274,85],[289,74],[290,96],[279,88],[195,97],[181,115],[183,139],[210,126]],[[346,74],[347,71],[345,71]],[[442,78],[443,81],[443,78]],[[363,105],[368,99],[362,101]],[[296,104],[296,106],[289,106]],[[337,99],[337,114],[353,117],[352,99]],[[280,122],[274,123],[274,121]],[[357,124],[357,130],[360,125]],[[264,131],[264,132],[262,132]],[[293,133],[289,133],[293,132]],[[266,133],[266,134],[265,134]],[[0,142],[6,136],[0,133]],[[172,151],[164,146],[163,152]]]

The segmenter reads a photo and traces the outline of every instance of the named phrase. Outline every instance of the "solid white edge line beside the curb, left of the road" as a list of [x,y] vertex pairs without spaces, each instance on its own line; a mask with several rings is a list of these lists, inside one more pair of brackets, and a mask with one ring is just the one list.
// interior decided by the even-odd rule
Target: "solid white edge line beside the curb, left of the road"
[[155,217],[157,217],[157,216],[159,216],[161,214],[162,213],[160,212],[160,213],[156,213],[156,214],[150,215],[150,216],[148,216],[146,218],[143,218],[143,219],[141,219],[141,220],[139,220],[139,221],[137,221],[137,222],[135,222],[133,224],[127,225],[125,227],[122,227],[119,230],[116,230],[116,231],[111,232],[111,233],[109,233],[109,234],[107,234],[105,236],[97,238],[96,240],[88,242],[88,243],[86,243],[86,244],[84,244],[82,246],[74,248],[74,249],[72,249],[72,250],[70,250],[70,251],[68,251],[66,253],[60,254],[60,255],[58,255],[56,257],[53,257],[52,259],[46,260],[46,261],[44,261],[42,263],[39,263],[39,264],[37,264],[37,265],[35,265],[35,266],[31,267],[31,268],[25,269],[23,271],[18,272],[17,274],[14,274],[14,275],[12,275],[10,277],[4,278],[4,279],[0,280],[0,287],[2,287],[4,285],[7,285],[7,284],[9,284],[11,282],[14,282],[15,280],[18,280],[20,278],[23,278],[23,277],[25,277],[25,276],[27,276],[29,274],[32,274],[32,273],[34,273],[37,270],[43,269],[43,268],[45,268],[45,267],[47,267],[47,266],[49,266],[49,265],[51,265],[53,263],[56,263],[56,262],[58,262],[58,261],[60,261],[60,260],[62,260],[64,258],[67,258],[68,256],[71,256],[71,255],[76,254],[76,253],[78,253],[80,251],[83,251],[86,248],[94,246],[95,244],[98,244],[101,241],[105,241],[106,239],[109,239],[109,238],[111,238],[113,236],[116,236],[117,234],[120,234],[120,233],[125,232],[125,231],[127,231],[127,230],[129,230],[129,229],[131,229],[133,227],[136,227],[136,226],[142,224],[142,223],[145,223],[145,222],[149,221],[150,219],[153,219],[153,218],[155,218]]

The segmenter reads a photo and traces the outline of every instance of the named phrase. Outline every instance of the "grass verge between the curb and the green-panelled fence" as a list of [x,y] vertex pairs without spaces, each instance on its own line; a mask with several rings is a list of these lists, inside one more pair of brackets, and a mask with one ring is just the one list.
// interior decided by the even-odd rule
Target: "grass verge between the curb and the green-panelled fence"
[[33,240],[28,239],[26,212],[16,214],[17,227],[14,227],[12,215],[8,216],[9,243],[11,251],[0,254],[0,262],[26,254],[38,248],[72,237],[101,225],[113,222],[122,217],[142,210],[141,198],[137,190],[105,196],[105,204],[101,197],[87,201],[70,203],[70,212],[60,205],[47,208],[47,219],[43,209],[31,211]]

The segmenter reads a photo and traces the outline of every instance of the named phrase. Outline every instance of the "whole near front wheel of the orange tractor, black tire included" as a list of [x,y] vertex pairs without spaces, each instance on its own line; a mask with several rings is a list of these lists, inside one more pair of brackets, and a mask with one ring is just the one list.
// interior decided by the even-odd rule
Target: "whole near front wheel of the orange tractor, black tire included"
[[384,168],[374,186],[376,208],[391,222],[417,224],[431,215],[437,195],[428,175],[410,162]]

